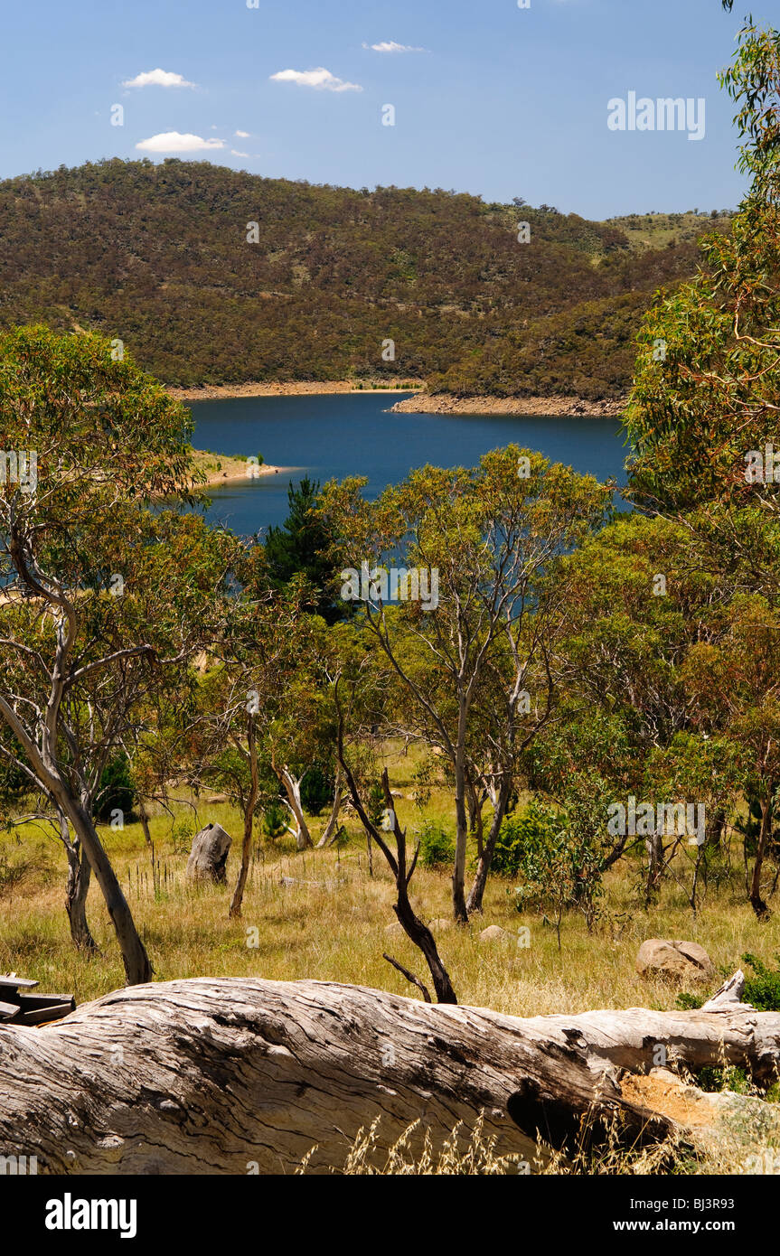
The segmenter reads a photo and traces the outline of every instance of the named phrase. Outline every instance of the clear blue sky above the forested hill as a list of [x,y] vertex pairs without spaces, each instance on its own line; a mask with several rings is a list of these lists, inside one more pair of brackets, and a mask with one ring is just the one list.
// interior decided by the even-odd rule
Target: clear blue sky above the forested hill
[[[769,24],[777,0],[751,9]],[[716,72],[741,16],[720,0],[6,3],[0,176],[180,156],[313,183],[523,196],[597,219],[722,208],[742,181]],[[123,85],[153,70],[178,85]],[[274,78],[284,72],[296,77]],[[610,131],[608,102],[628,92],[703,97],[705,138]]]

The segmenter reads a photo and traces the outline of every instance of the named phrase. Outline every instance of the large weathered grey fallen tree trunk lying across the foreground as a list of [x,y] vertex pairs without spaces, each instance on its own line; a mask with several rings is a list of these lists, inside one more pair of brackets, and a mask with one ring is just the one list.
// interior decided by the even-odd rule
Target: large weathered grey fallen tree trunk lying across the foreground
[[767,1073],[780,1015],[584,1012],[521,1020],[330,982],[196,978],[114,991],[54,1025],[0,1026],[0,1147],[46,1173],[340,1168],[379,1117],[376,1154],[420,1120],[441,1145],[484,1112],[499,1154],[539,1133],[571,1148],[617,1122],[627,1144],[678,1132],[627,1100],[620,1066],[723,1058]]

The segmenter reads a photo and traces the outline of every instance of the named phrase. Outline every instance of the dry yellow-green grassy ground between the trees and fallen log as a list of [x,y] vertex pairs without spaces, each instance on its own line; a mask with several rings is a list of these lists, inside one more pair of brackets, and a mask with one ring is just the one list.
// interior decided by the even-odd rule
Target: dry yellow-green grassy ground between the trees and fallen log
[[[425,813],[416,806],[411,798],[413,769],[413,756],[392,755],[391,779],[403,795],[397,799],[401,821],[413,829],[425,815],[452,829],[451,798],[445,791],[433,793]],[[427,977],[420,955],[406,936],[397,936],[398,926],[388,931],[396,919],[394,885],[378,850],[371,874],[366,839],[352,815],[347,820],[348,840],[340,850],[298,854],[291,838],[259,838],[244,917],[229,921],[240,819],[225,803],[201,799],[195,805],[196,810],[182,805],[173,820],[162,814],[152,816],[154,863],[139,824],[100,830],[157,980],[311,977],[416,995],[382,958],[382,952],[388,951]],[[225,888],[195,888],[185,879],[191,835],[210,820],[234,836]],[[311,820],[314,840],[324,823],[324,815]],[[24,864],[29,865],[26,874],[9,873]],[[700,942],[716,967],[730,972],[746,951],[766,961],[780,951],[776,918],[760,924],[744,902],[740,865],[717,888],[710,887],[696,917],[673,880],[664,883],[659,904],[644,911],[638,894],[641,877],[638,863],[622,860],[608,877],[602,919],[589,933],[579,913],[565,916],[560,950],[554,923],[540,914],[520,916],[512,882],[492,877],[484,916],[475,917],[466,929],[448,922],[435,927],[458,1000],[519,1016],[592,1007],[673,1007],[676,990],[661,981],[647,981],[634,970],[644,938]],[[293,878],[296,884],[283,884],[283,878]],[[74,951],[63,907],[64,882],[64,852],[43,828],[28,823],[0,835],[0,971],[36,978],[46,991],[74,992],[83,1002],[123,985],[123,970],[94,880],[88,918],[100,953],[87,958]],[[418,868],[412,892],[425,919],[446,921],[451,916],[446,869]],[[480,932],[487,924],[500,924],[510,933],[525,924],[530,928],[530,946],[482,942]],[[249,945],[254,942],[257,945]]]

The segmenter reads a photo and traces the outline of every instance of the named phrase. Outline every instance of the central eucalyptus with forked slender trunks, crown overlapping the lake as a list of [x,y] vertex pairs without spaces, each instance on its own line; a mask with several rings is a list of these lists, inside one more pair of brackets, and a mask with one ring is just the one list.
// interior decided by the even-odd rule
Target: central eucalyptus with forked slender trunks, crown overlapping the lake
[[362,496],[364,482],[330,484],[323,492],[325,517],[340,538],[342,595],[363,602],[366,625],[403,695],[398,723],[448,761],[456,814],[452,904],[455,919],[466,923],[469,781],[484,770],[484,750],[479,762],[471,757],[474,730],[489,727],[487,703],[480,718],[480,701],[490,693],[497,791],[472,908],[481,903],[517,747],[551,711],[546,659],[565,617],[566,589],[564,578],[544,577],[602,525],[610,489],[516,446],[485,455],[471,470],[413,471],[374,502]]

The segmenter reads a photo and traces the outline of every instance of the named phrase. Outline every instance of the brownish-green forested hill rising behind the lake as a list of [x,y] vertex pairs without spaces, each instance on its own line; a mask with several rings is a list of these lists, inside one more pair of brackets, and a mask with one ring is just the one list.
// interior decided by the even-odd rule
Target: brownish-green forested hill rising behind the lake
[[698,224],[685,217],[656,247],[644,220],[441,190],[176,160],[62,167],[0,183],[0,323],[100,330],[180,386],[384,374],[460,393],[615,397],[652,293],[696,269]]

